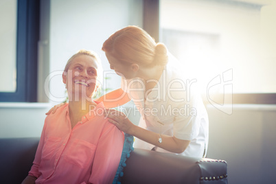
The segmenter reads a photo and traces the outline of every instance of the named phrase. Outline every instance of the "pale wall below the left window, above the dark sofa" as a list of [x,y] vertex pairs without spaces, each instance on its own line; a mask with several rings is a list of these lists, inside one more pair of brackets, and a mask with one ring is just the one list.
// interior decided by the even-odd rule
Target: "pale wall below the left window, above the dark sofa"
[[0,103],[0,138],[40,137],[47,103]]

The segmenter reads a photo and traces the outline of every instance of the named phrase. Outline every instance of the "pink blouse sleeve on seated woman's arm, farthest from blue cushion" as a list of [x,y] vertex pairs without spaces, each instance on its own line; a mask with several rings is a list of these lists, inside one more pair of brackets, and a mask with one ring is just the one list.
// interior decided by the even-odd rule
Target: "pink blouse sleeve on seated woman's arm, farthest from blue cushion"
[[36,178],[38,178],[41,175],[41,172],[38,172],[38,167],[41,163],[41,151],[42,151],[42,148],[44,145],[46,122],[47,122],[47,117],[45,119],[45,123],[44,123],[43,130],[41,133],[41,139],[40,139],[40,141],[38,143],[38,147],[36,149],[36,156],[34,157],[33,165],[29,172],[30,176],[34,176]]

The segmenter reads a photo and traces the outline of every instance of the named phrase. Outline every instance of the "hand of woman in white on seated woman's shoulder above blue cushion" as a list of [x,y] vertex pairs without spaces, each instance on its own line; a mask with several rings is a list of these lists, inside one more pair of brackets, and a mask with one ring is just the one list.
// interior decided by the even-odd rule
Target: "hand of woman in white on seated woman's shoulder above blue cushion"
[[119,130],[132,135],[132,130],[133,128],[135,128],[135,125],[130,122],[130,120],[124,113],[116,111],[115,109],[106,108],[106,111],[104,112],[104,117],[108,117],[108,122],[111,122],[111,124],[117,126]]

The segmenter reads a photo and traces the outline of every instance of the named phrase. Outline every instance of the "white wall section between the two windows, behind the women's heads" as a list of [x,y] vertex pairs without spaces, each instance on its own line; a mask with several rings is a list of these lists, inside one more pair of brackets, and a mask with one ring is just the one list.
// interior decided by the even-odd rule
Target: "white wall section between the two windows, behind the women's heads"
[[[102,43],[127,25],[142,26],[142,1],[135,0],[55,0],[51,1],[50,16],[50,73],[63,71],[67,60],[79,49],[96,51],[104,70],[110,71],[102,51]],[[119,80],[113,75],[113,80]],[[119,88],[119,82],[111,82]],[[65,85],[61,76],[51,78],[50,100],[62,101]]]

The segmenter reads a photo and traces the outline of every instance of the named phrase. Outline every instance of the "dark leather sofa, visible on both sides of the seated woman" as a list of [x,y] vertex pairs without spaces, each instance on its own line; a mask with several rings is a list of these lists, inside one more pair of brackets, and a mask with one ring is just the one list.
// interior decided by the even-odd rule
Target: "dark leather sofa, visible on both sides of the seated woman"
[[[29,172],[39,137],[0,139],[0,183],[21,183]],[[134,149],[120,183],[227,183],[227,163],[215,159]]]

